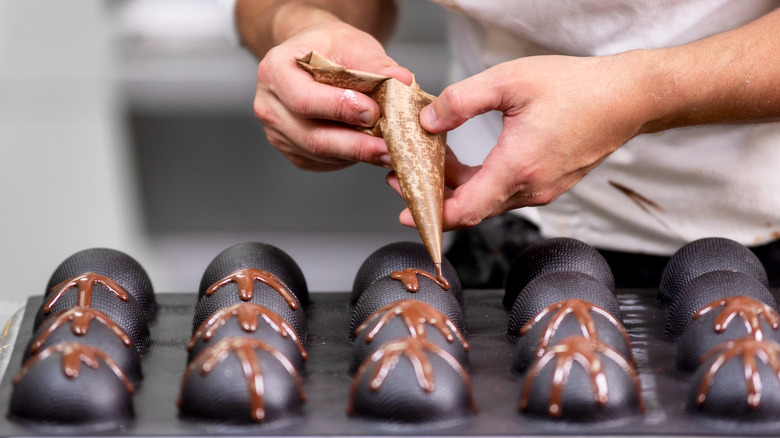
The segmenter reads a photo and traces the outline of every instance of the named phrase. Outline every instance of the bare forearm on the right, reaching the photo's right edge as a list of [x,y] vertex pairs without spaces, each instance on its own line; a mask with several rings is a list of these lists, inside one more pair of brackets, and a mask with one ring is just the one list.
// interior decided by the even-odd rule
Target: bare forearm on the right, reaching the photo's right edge
[[690,44],[639,52],[626,55],[644,58],[642,132],[780,120],[780,10]]

